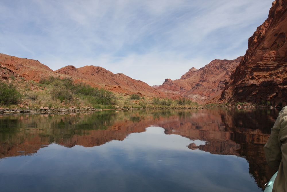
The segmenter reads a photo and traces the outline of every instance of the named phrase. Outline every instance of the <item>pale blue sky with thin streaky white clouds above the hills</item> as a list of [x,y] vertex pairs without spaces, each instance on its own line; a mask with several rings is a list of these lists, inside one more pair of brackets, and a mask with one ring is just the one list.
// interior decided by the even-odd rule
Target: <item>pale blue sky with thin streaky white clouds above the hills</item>
[[273,0],[0,0],[0,52],[101,66],[149,85],[234,59]]

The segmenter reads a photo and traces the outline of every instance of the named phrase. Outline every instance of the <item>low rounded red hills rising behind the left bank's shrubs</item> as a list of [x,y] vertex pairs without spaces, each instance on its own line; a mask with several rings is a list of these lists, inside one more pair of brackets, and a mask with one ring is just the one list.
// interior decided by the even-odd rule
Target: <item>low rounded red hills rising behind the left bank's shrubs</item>
[[[147,83],[132,79],[122,73],[114,74],[102,67],[84,66],[76,69],[74,66],[65,66],[57,71],[32,59],[18,58],[0,54],[0,65],[7,68],[14,75],[25,77],[27,80],[39,81],[48,76],[72,77],[76,82],[84,82],[93,87],[104,88],[118,93],[137,93],[145,96],[166,97]],[[0,74],[1,75],[1,74]],[[3,75],[2,75],[3,76]],[[7,79],[7,75],[2,77]],[[172,97],[173,95],[169,96]]]

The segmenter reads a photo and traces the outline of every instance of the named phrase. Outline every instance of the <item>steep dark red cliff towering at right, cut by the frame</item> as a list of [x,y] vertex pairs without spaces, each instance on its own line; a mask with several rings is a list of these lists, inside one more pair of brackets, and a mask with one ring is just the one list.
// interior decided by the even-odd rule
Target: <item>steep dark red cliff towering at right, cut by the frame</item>
[[248,50],[222,92],[222,102],[287,104],[287,1],[272,3],[269,16],[248,40]]

